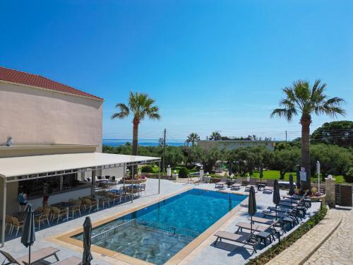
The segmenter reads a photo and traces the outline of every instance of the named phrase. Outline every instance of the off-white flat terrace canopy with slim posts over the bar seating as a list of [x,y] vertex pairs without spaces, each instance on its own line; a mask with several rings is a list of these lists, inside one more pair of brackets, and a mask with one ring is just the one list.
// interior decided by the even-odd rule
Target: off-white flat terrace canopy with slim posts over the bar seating
[[[146,163],[160,163],[160,158],[138,155],[116,155],[110,153],[68,153],[58,155],[33,155],[15,158],[0,158],[0,178],[4,182],[3,215],[2,215],[2,245],[5,240],[5,215],[6,215],[6,184],[8,182],[20,182],[28,179],[40,179],[80,172],[92,172],[96,170],[114,167],[126,167]],[[95,177],[92,177],[95,184]],[[92,185],[94,192],[94,185]],[[158,193],[160,182],[158,183]]]

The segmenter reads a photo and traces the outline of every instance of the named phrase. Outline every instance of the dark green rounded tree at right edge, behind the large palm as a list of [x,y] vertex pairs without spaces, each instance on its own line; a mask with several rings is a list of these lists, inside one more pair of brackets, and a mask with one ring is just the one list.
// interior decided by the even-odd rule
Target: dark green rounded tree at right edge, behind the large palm
[[353,122],[325,122],[311,134],[311,142],[336,144],[341,147],[353,146]]

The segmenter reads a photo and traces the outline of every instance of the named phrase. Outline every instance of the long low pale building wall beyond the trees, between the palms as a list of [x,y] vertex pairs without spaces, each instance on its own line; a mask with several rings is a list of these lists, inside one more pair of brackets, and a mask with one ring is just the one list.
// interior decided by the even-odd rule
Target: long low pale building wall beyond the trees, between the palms
[[213,148],[233,150],[239,147],[247,146],[266,146],[270,150],[275,149],[274,141],[198,141],[198,146],[201,148]]

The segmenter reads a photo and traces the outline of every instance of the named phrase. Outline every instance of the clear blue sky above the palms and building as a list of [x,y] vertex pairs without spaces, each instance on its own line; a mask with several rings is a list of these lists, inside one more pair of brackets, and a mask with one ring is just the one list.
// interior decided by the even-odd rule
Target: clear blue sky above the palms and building
[[270,112],[299,78],[322,78],[353,119],[352,13],[352,1],[1,1],[0,65],[104,98],[105,138],[131,138],[130,120],[109,119],[129,90],[160,107],[141,138],[291,138],[299,119]]

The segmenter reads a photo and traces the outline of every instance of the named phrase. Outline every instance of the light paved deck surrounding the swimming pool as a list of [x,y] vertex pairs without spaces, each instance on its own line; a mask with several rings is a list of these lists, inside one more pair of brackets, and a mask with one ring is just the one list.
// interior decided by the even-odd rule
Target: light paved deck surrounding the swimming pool
[[[146,185],[146,193],[140,196],[140,198],[135,199],[133,203],[128,201],[124,204],[119,204],[98,212],[90,213],[89,216],[92,220],[92,223],[98,222],[104,218],[116,216],[119,213],[124,213],[129,209],[131,210],[131,208],[136,208],[145,204],[152,204],[153,202],[158,201],[164,197],[186,191],[190,188],[216,190],[215,184],[198,184],[195,186],[191,184],[188,185],[185,183],[172,182],[169,180],[161,180],[160,194],[157,194],[157,185],[157,179],[148,179]],[[229,192],[229,189],[224,189],[221,192]],[[239,192],[244,192],[244,187],[241,188]],[[286,191],[281,191],[281,194],[285,193]],[[248,193],[245,192],[244,194]],[[273,206],[272,197],[272,194],[264,194],[263,192],[257,192],[256,201],[258,211],[261,211],[267,208],[268,206]],[[311,216],[315,211],[317,211],[318,208],[318,203],[313,204],[309,211],[309,216]],[[235,224],[237,222],[242,220],[249,221],[247,211],[248,208],[246,200],[239,205],[239,208],[236,213],[234,213],[234,216],[231,216],[224,224],[220,226],[220,228],[217,228],[217,230],[235,232]],[[49,228],[37,231],[36,242],[32,246],[32,251],[51,246],[60,249],[60,252],[58,253],[59,259],[65,259],[66,257],[71,256],[81,257],[82,249],[80,249],[80,247],[75,247],[71,245],[68,246],[66,242],[53,240],[53,238],[70,232],[71,230],[82,228],[84,220],[85,216],[82,216],[80,218],[75,218],[73,220],[71,219],[64,223],[59,223],[59,225],[54,225]],[[213,246],[213,242],[215,241],[213,233],[212,235],[205,237],[205,239],[203,240],[203,242],[201,242],[200,245],[194,246],[191,253],[177,264],[244,264],[246,259],[256,257],[256,254],[253,254],[252,249],[250,249],[249,247],[242,247],[241,245],[237,245],[237,243],[230,244],[230,242],[222,242],[220,244],[217,244],[217,247]],[[258,254],[263,252],[265,249],[259,250]],[[21,257],[28,253],[28,249],[26,249],[20,243],[20,237],[6,242],[5,247],[1,248],[1,250],[10,252],[13,257]],[[92,260],[91,264],[133,264],[133,262],[128,263],[124,261],[116,261],[116,259],[105,257],[104,255],[97,253],[93,253],[93,258],[94,259]],[[47,259],[47,261],[54,262],[55,259]]]

